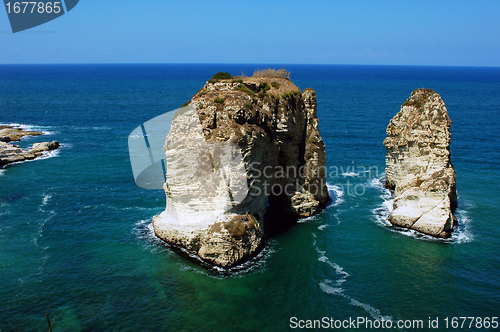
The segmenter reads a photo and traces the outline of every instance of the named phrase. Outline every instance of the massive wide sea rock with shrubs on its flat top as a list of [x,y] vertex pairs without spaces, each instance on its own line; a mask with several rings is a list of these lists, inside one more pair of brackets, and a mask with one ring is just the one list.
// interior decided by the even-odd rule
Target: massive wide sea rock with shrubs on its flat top
[[268,202],[286,220],[326,204],[312,89],[301,93],[285,78],[209,81],[189,105],[165,142],[167,208],[153,221],[158,237],[230,267],[261,246]]

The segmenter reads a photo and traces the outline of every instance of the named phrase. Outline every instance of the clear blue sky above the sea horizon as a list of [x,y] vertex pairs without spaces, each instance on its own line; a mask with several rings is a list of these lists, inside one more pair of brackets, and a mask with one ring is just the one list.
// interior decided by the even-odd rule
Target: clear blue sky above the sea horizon
[[500,66],[500,1],[81,0],[0,63]]

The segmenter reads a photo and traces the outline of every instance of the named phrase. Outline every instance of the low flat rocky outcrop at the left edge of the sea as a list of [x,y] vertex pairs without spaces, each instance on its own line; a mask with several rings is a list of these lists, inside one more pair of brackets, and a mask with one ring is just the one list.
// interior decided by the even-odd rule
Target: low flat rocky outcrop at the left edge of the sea
[[0,128],[0,167],[14,162],[33,160],[43,155],[45,151],[59,148],[57,141],[34,143],[31,148],[21,149],[18,145],[6,142],[19,141],[24,136],[42,135],[36,131],[25,131],[20,128],[3,126]]

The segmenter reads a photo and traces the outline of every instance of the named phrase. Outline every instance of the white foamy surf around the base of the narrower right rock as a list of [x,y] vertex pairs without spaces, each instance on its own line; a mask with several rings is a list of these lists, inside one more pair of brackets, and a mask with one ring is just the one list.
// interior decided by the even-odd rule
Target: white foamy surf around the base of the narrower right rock
[[451,236],[447,239],[437,238],[431,235],[420,233],[413,229],[397,227],[390,223],[389,216],[391,215],[394,203],[394,194],[385,188],[385,178],[371,179],[369,186],[381,191],[380,198],[382,203],[372,210],[372,216],[375,224],[387,228],[392,232],[402,234],[405,236],[413,237],[430,242],[443,242],[443,243],[469,243],[474,240],[474,235],[470,230],[470,218],[467,211],[457,208],[455,210],[455,217],[457,218],[457,225],[454,227]]

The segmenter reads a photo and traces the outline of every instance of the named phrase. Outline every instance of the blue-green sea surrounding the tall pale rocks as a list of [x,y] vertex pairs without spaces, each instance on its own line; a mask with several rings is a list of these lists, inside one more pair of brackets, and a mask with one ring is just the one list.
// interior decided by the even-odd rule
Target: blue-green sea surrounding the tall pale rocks
[[[223,270],[155,237],[128,135],[219,72],[281,68],[317,94],[330,204]],[[417,88],[451,125],[458,225],[394,229],[386,127]],[[500,330],[500,68],[0,65],[0,124],[61,148],[0,169],[0,331]],[[464,319],[465,318],[465,319]]]

